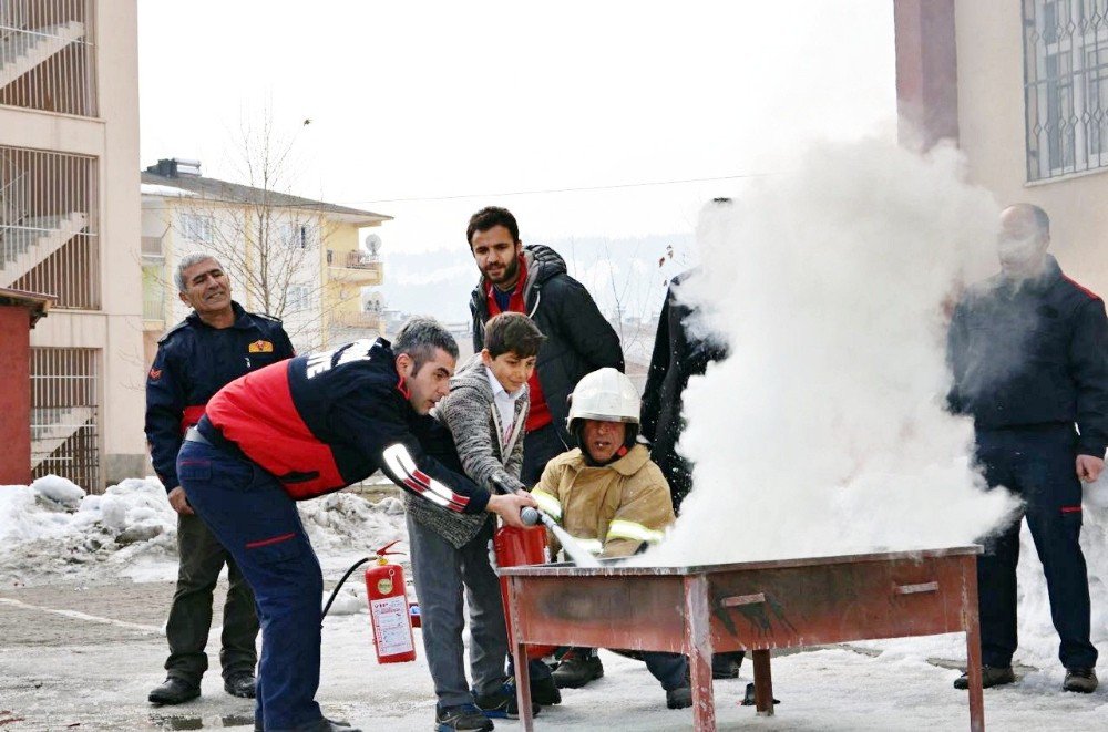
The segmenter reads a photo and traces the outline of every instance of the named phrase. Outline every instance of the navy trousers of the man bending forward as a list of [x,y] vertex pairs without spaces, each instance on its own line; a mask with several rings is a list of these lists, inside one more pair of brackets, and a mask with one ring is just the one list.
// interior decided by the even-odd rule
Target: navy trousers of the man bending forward
[[322,719],[315,697],[324,578],[296,503],[273,475],[208,444],[185,441],[177,477],[254,589],[261,621],[256,723],[285,730]]

